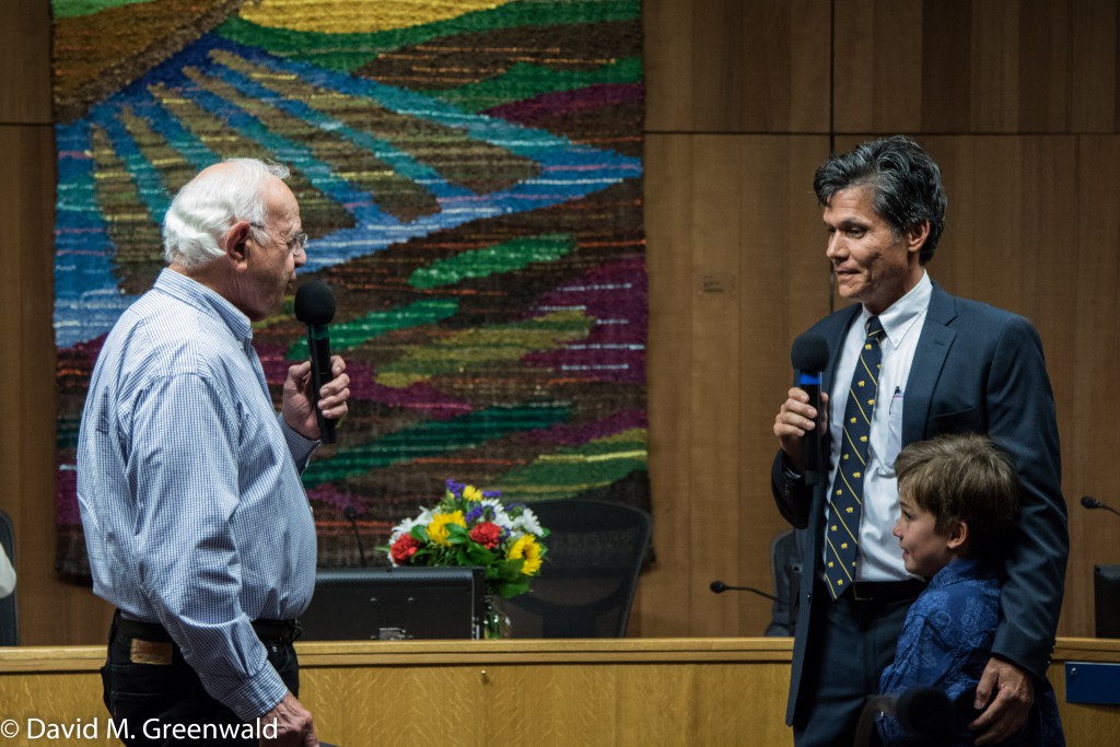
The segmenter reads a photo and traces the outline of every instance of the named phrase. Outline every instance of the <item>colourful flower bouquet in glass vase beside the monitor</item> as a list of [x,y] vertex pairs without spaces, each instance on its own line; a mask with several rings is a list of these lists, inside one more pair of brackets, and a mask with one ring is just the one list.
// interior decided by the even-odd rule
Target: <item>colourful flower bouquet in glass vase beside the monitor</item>
[[524,504],[505,505],[497,491],[447,480],[444,499],[416,519],[393,527],[389,552],[393,566],[478,566],[486,571],[485,637],[502,637],[505,616],[493,598],[508,599],[529,590],[541,572],[549,531]]

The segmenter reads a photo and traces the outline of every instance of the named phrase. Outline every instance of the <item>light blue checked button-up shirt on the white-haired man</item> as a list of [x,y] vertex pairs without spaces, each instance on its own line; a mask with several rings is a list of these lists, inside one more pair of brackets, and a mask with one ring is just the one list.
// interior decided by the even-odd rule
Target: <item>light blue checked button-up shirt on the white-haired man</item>
[[105,339],[77,448],[94,591],[166,627],[243,719],[287,692],[252,620],[295,618],[315,589],[299,473],[317,443],[277,414],[249,318],[183,274]]

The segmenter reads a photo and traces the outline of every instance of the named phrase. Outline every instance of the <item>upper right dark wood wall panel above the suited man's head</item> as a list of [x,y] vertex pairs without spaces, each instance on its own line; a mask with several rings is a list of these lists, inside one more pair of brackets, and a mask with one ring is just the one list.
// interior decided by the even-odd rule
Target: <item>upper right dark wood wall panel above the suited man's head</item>
[[1112,0],[837,0],[838,132],[1117,131]]

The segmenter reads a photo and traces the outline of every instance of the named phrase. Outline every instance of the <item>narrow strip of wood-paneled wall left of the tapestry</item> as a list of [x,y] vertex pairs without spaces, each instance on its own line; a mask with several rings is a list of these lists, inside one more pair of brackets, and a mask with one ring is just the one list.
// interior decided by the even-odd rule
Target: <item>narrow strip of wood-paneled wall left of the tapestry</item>
[[63,583],[55,553],[55,153],[50,3],[0,3],[0,507],[16,524],[21,641],[94,643],[109,607]]

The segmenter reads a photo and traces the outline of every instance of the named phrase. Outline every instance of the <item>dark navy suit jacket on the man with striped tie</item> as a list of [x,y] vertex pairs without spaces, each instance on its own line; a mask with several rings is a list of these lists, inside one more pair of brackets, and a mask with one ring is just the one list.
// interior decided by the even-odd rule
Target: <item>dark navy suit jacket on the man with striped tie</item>
[[[831,392],[840,348],[858,305],[814,325],[829,343],[829,370],[821,387]],[[1023,484],[1019,527],[1007,558],[1000,596],[1000,625],[992,653],[1044,678],[1054,650],[1070,554],[1054,394],[1042,340],[1025,318],[986,304],[950,296],[934,284],[922,336],[906,382],[903,446],[942,433],[987,433],[1015,458]],[[825,435],[825,443],[827,443]],[[825,454],[829,451],[825,447]],[[821,576],[824,536],[823,492],[791,480],[778,451],[772,470],[778,510],[797,527],[810,527],[794,633],[793,672],[786,722],[812,706],[801,692],[806,657],[818,656],[812,629],[813,580]],[[800,703],[800,704],[799,704]]]

